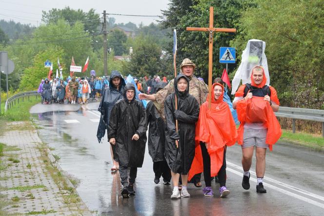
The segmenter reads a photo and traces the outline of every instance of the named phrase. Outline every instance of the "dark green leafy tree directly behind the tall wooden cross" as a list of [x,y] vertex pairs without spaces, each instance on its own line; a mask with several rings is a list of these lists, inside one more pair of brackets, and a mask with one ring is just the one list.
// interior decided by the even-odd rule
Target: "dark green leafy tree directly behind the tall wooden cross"
[[[162,26],[177,29],[178,64],[184,58],[191,59],[196,65],[196,76],[205,80],[208,77],[208,33],[189,32],[186,27],[209,26],[209,7],[214,7],[214,27],[237,28],[242,12],[255,6],[254,0],[171,0],[168,10],[163,11],[165,19]],[[172,31],[169,35],[171,36]],[[219,65],[219,48],[229,46],[229,42],[237,37],[233,33],[214,33],[213,75],[221,76],[223,65]],[[172,44],[167,51],[172,53]],[[229,65],[229,69],[234,65]]]

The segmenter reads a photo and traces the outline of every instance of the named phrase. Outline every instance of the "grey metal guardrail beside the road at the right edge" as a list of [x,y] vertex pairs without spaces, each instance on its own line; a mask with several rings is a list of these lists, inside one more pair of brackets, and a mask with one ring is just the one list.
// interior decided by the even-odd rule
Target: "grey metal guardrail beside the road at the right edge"
[[322,122],[322,136],[324,137],[324,110],[280,107],[276,116],[292,119],[292,132],[296,132],[296,119]]

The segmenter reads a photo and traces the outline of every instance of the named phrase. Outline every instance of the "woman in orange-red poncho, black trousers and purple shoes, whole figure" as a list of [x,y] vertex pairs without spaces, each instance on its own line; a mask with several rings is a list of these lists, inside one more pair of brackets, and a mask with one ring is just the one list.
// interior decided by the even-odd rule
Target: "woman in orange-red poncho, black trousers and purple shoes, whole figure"
[[218,175],[221,197],[229,194],[226,189],[226,146],[236,142],[237,130],[231,111],[226,102],[223,102],[224,87],[213,84],[211,108],[208,108],[208,98],[200,108],[199,119],[196,125],[196,154],[189,172],[189,179],[196,173],[202,173],[206,187],[205,196],[213,196],[211,176]]

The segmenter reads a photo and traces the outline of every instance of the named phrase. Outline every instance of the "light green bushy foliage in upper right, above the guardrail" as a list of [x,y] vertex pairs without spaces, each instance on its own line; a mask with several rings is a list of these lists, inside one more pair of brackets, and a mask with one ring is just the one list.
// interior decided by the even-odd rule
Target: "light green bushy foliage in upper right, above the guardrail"
[[[249,39],[266,42],[271,85],[281,104],[324,108],[324,2],[256,0],[243,13],[242,37],[232,45],[243,50]],[[239,56],[241,57],[241,56]]]

